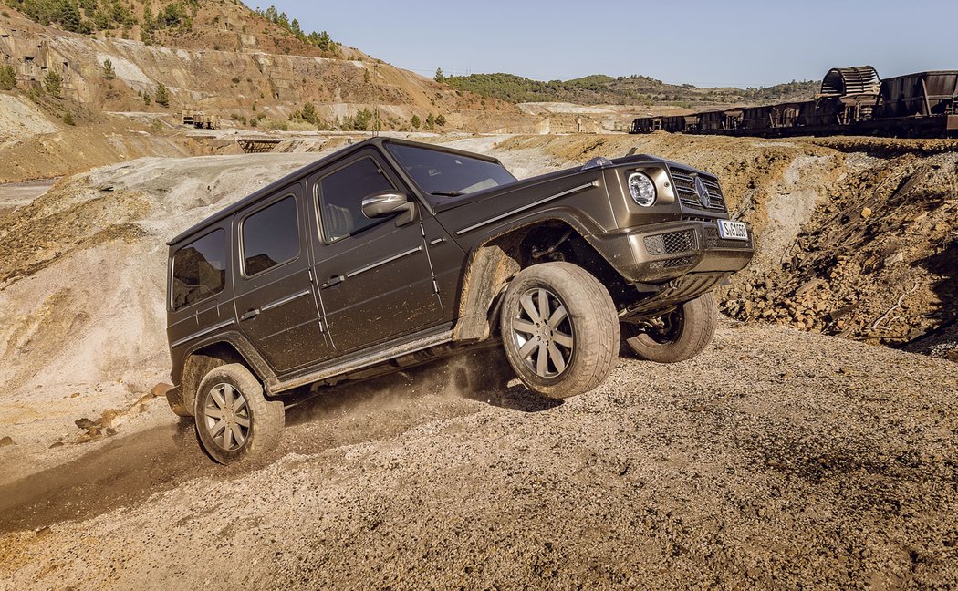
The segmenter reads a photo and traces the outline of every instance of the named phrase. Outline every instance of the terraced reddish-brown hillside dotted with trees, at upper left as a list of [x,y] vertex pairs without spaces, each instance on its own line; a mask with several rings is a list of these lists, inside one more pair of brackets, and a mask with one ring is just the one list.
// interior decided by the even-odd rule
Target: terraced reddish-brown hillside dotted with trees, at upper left
[[84,0],[80,7],[90,8],[65,0],[0,3],[0,66],[11,69],[14,92],[63,102],[57,118],[77,103],[170,123],[179,111],[203,110],[240,128],[532,131],[536,124],[508,102],[457,92],[325,32],[306,34],[275,9],[215,0],[159,12],[148,2]]

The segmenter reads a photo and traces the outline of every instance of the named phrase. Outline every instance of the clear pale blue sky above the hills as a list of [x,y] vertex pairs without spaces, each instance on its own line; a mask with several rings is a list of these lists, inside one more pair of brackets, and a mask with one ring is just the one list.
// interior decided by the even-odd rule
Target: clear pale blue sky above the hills
[[[267,8],[246,0],[250,8]],[[821,80],[873,65],[890,78],[958,69],[958,0],[642,0],[543,3],[289,2],[302,28],[432,76],[507,72],[536,80],[640,74],[696,86]]]

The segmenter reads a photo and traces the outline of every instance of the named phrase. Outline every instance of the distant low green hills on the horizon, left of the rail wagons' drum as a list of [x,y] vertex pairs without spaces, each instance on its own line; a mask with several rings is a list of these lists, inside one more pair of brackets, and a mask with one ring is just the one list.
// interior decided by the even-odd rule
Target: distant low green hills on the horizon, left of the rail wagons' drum
[[508,102],[673,104],[687,107],[808,100],[819,86],[812,80],[792,80],[765,88],[699,88],[693,84],[669,84],[648,76],[612,78],[604,75],[543,82],[513,74],[473,74],[444,81],[459,90]]

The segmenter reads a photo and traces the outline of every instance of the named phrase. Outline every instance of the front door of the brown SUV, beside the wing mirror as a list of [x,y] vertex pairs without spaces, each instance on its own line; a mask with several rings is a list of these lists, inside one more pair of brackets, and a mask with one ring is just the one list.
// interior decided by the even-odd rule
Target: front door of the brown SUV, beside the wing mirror
[[402,190],[376,151],[359,152],[312,181],[314,273],[335,351],[438,324],[443,308],[422,238],[422,212],[404,225],[397,217],[363,216],[364,197]]

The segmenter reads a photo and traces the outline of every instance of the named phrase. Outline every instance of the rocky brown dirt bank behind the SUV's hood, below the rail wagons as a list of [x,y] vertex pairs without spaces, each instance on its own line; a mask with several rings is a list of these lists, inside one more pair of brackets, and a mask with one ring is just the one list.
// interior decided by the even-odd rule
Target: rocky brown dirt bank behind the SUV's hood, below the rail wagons
[[[719,174],[755,261],[721,309],[947,355],[958,319],[958,142],[683,136],[517,137],[561,163],[647,152]],[[932,337],[928,346],[922,343]],[[950,339],[950,340],[949,340]]]

